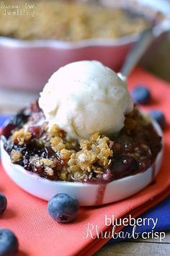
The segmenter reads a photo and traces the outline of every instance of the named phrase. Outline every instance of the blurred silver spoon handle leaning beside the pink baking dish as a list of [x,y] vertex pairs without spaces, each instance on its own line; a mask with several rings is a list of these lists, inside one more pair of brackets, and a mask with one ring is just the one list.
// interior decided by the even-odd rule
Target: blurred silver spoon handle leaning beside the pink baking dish
[[138,63],[141,56],[143,56],[144,52],[151,44],[153,37],[153,27],[148,27],[140,33],[137,42],[130,50],[128,56],[126,56],[125,62],[122,65],[122,69],[120,70],[122,77],[128,77],[128,74],[130,74],[135,64]]

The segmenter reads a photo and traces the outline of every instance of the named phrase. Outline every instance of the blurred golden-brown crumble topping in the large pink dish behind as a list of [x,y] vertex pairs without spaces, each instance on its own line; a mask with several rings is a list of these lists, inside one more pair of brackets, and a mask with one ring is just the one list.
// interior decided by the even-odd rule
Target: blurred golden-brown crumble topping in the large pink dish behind
[[[94,5],[77,1],[6,0],[4,4],[17,4],[19,14],[6,17],[0,9],[0,35],[23,40],[120,38],[139,33],[149,25],[148,20],[141,14],[103,7],[99,3]],[[35,5],[35,9],[30,10],[30,15],[20,15],[28,11],[25,4]]]

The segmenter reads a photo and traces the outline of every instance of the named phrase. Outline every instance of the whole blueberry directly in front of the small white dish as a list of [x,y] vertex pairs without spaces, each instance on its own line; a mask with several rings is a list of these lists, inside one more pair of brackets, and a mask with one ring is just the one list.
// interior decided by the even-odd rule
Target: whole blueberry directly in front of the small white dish
[[75,197],[59,193],[48,202],[48,213],[53,220],[66,223],[73,221],[79,210],[79,202]]

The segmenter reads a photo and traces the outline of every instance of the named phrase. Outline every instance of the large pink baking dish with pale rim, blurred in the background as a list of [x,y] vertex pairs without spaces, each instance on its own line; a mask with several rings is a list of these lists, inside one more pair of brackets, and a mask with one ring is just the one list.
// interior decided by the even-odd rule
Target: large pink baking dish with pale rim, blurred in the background
[[[123,3],[127,6],[127,2],[132,5],[134,1],[121,0],[120,6]],[[105,1],[107,4],[112,2]],[[156,4],[154,8],[146,8],[145,3],[135,5],[135,8],[137,7],[140,7],[141,11],[144,9],[145,14],[149,13],[151,17],[154,17],[158,9],[162,12],[160,7],[156,9]],[[160,25],[158,34],[162,31],[164,26]],[[0,37],[0,87],[41,90],[48,77],[59,67],[83,59],[102,61],[104,65],[118,71],[137,38],[138,35],[129,35],[116,40],[95,39],[69,43],[59,40],[25,41]]]

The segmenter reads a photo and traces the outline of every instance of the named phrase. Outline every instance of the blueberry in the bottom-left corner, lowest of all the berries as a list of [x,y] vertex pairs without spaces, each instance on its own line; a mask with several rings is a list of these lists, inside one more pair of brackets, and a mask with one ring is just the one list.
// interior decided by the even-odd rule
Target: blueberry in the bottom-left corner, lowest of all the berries
[[14,256],[17,255],[18,239],[9,229],[0,229],[0,255]]

